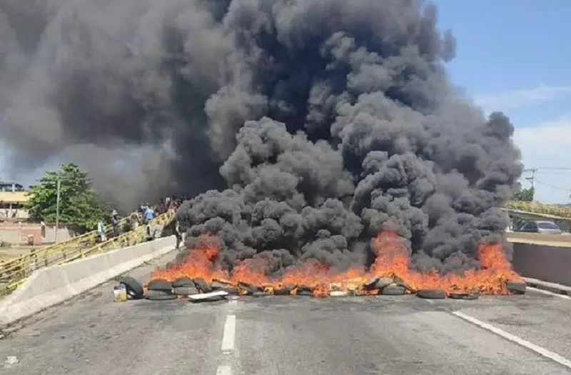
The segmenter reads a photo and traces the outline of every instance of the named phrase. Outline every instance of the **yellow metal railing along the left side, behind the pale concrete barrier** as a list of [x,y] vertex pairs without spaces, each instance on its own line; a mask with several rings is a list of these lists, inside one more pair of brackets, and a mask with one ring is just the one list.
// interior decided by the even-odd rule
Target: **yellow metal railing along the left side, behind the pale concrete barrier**
[[[167,213],[157,216],[152,225],[166,226],[173,219],[173,214]],[[91,239],[91,237],[89,237]],[[146,241],[146,226],[138,226],[133,231],[127,231],[119,236],[113,237],[103,243],[97,243],[96,240],[91,242],[89,240],[81,241],[79,243],[69,244],[62,246],[59,251],[30,251],[25,258],[25,261],[14,266],[12,264],[9,268],[0,269],[0,296],[10,294],[14,289],[20,286],[26,278],[36,269],[44,268],[47,266],[54,266],[64,264],[69,261],[85,258],[93,254],[101,254],[103,252],[122,249],[126,246],[133,246]],[[64,243],[62,243],[64,244]]]

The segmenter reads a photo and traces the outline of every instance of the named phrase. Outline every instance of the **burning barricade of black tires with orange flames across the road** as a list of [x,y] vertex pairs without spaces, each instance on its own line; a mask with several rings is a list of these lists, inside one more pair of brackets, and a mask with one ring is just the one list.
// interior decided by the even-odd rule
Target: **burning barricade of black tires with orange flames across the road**
[[[404,296],[421,299],[475,300],[482,294],[525,294],[525,282],[512,271],[500,244],[479,247],[481,268],[462,274],[410,271],[405,246],[383,232],[372,241],[376,259],[368,271],[334,273],[314,259],[289,269],[281,278],[267,276],[263,258],[245,259],[232,272],[218,264],[216,237],[205,236],[180,264],[151,275],[144,287],[124,278],[132,298],[153,301],[218,301],[226,296]],[[144,289],[144,292],[143,292]]]

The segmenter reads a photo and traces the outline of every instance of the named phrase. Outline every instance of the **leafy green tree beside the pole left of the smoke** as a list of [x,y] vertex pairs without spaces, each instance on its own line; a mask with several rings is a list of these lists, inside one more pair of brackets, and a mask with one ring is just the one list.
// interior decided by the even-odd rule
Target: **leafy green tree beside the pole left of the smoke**
[[58,181],[60,223],[87,231],[95,229],[99,220],[110,219],[110,210],[91,188],[89,175],[76,164],[61,164],[59,171],[46,171],[39,184],[31,186],[30,199],[24,205],[31,219],[56,222]]

